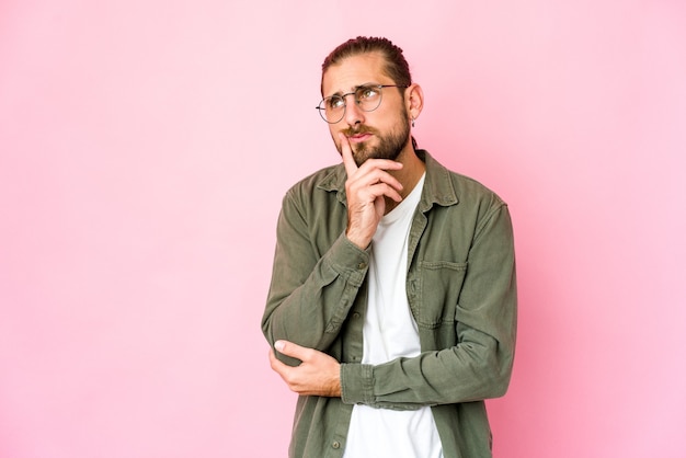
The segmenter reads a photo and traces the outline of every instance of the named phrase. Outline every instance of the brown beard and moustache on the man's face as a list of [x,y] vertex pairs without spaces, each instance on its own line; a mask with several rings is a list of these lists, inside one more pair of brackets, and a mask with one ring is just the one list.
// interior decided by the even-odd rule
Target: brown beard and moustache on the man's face
[[[387,135],[382,135],[377,129],[365,126],[364,124],[343,130],[343,134],[348,137],[355,134],[369,133],[374,134],[375,138],[378,139],[378,142],[375,146],[368,145],[366,141],[356,144],[355,146],[351,145],[353,158],[355,159],[357,167],[365,163],[367,159],[389,159],[391,161],[398,159],[400,151],[402,151],[405,145],[408,145],[410,139],[410,123],[405,121],[407,118],[407,110],[403,107],[400,122],[396,124],[396,126],[393,126]],[[335,145],[339,152],[342,153],[341,145],[338,142],[335,142]]]

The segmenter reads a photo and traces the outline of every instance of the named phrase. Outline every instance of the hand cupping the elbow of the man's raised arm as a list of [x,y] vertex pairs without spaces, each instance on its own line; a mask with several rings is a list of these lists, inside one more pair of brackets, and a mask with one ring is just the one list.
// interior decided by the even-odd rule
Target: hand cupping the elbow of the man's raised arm
[[341,365],[338,360],[313,348],[306,348],[293,342],[277,341],[274,347],[286,356],[300,359],[297,367],[276,359],[270,348],[272,369],[284,379],[291,391],[302,396],[341,397]]

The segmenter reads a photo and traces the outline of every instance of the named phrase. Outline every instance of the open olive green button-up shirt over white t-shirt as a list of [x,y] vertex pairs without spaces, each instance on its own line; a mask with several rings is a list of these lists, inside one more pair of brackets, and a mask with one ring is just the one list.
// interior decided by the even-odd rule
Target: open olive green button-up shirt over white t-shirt
[[446,458],[492,456],[483,400],[505,393],[516,335],[512,222],[493,192],[416,153],[426,180],[405,283],[416,357],[361,364],[369,251],[344,233],[343,165],[320,170],[284,197],[262,330],[272,345],[288,340],[336,358],[342,386],[341,398],[298,398],[290,457],[341,457],[355,403],[431,405]]

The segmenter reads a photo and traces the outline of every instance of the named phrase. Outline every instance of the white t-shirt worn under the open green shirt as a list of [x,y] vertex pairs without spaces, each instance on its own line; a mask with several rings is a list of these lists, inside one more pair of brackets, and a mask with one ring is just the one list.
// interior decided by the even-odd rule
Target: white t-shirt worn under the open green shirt
[[[371,240],[369,300],[363,328],[364,364],[420,354],[420,335],[405,291],[408,238],[424,176],[384,216]],[[431,408],[397,411],[355,405],[344,458],[442,458]]]

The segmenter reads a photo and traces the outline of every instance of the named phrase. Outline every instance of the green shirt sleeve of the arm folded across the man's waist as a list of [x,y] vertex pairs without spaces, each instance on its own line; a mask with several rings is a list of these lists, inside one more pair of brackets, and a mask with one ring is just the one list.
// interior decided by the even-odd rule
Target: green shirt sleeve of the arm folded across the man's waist
[[483,218],[469,250],[456,345],[374,366],[343,364],[343,402],[412,410],[503,396],[514,360],[516,309],[514,241],[503,204]]

